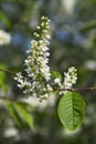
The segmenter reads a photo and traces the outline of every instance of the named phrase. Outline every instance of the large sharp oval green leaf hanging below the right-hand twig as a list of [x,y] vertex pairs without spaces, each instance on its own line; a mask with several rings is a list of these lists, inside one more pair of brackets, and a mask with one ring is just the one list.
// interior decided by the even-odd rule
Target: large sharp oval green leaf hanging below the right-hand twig
[[58,117],[62,124],[70,131],[76,130],[85,116],[85,102],[76,92],[67,92],[58,102]]

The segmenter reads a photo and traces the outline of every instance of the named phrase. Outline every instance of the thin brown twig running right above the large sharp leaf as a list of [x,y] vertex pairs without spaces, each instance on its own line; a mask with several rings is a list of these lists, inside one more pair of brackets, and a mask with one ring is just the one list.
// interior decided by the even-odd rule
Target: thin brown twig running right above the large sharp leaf
[[96,91],[96,86],[93,88],[84,88],[84,89],[60,89],[58,91],[71,91],[71,92],[79,92],[79,91]]

